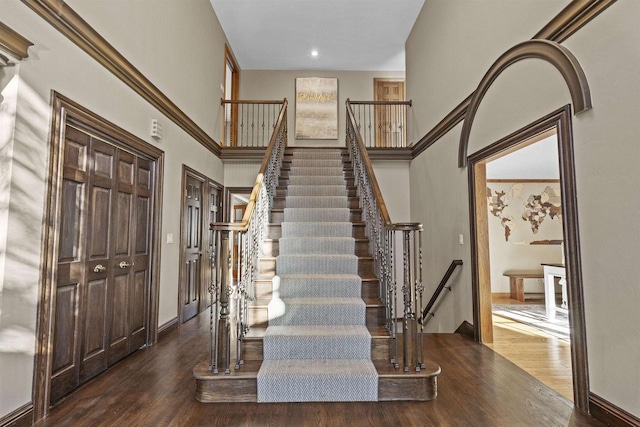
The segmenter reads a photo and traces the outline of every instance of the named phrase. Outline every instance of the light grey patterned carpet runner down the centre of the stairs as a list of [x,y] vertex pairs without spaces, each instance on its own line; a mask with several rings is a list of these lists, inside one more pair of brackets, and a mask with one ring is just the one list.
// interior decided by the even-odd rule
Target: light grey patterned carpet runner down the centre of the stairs
[[377,401],[342,151],[291,160],[258,402]]

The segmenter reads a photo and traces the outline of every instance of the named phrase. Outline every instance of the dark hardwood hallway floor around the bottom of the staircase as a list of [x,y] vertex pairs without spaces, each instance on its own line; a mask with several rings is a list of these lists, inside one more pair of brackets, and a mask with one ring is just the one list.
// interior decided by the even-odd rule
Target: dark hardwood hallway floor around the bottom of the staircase
[[601,426],[491,349],[458,334],[425,339],[440,364],[430,402],[227,403],[194,399],[208,314],[140,350],[55,406],[37,426]]

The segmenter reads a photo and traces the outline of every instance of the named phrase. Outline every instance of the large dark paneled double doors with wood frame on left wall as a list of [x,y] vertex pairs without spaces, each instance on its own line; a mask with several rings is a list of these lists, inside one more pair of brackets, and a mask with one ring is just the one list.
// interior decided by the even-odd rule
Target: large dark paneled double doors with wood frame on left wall
[[53,92],[34,419],[157,340],[161,150]]

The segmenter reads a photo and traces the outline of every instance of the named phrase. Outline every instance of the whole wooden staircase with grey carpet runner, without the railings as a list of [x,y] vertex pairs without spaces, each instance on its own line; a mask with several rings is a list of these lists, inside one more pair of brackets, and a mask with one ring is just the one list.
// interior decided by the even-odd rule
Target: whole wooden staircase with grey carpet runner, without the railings
[[430,400],[440,368],[394,369],[344,149],[287,148],[241,369],[194,368],[202,402]]

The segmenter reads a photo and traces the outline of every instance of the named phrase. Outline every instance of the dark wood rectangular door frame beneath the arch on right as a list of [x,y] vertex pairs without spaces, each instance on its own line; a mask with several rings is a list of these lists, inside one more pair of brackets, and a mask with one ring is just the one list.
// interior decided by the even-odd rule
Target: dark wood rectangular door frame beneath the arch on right
[[[563,241],[565,244],[565,265],[567,271],[567,290],[569,292],[569,324],[571,325],[571,366],[573,370],[574,405],[585,413],[589,412],[589,369],[587,360],[587,329],[585,324],[584,294],[582,289],[582,264],[580,254],[580,232],[578,227],[578,201],[576,193],[575,161],[573,155],[573,131],[571,124],[571,106],[564,107],[542,117],[541,119],[515,131],[493,144],[469,156],[469,222],[471,230],[471,281],[473,296],[473,326],[475,339],[483,342],[483,312],[487,307],[486,260],[483,254],[488,251],[486,232],[481,237],[481,210],[486,207],[486,182],[481,182],[479,169],[487,159],[498,153],[513,149],[523,141],[541,135],[549,129],[556,129],[558,137],[558,163],[560,167],[560,185],[562,197]],[[480,171],[480,174],[482,172]],[[478,185],[482,184],[482,185]],[[483,193],[484,192],[484,193]],[[484,239],[484,240],[481,240]],[[484,243],[483,243],[484,241]],[[483,246],[485,247],[483,249]],[[486,273],[485,273],[486,274]]]

